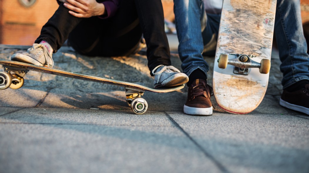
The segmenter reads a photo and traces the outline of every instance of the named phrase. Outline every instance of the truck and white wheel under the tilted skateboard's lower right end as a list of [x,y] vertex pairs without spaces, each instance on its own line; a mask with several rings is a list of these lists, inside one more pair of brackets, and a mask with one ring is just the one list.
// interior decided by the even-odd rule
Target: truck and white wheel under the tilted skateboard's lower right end
[[125,95],[126,95],[126,101],[129,107],[131,107],[131,110],[135,114],[143,114],[148,109],[148,103],[145,99],[141,98],[142,95],[144,95],[145,90],[139,90],[139,89],[133,89],[125,87]]

